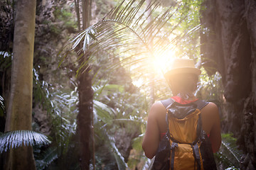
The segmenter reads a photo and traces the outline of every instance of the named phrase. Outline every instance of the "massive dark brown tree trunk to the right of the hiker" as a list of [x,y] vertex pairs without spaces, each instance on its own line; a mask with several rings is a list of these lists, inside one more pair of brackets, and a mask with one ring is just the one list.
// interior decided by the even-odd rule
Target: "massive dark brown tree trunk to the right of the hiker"
[[256,169],[256,1],[207,0],[203,6],[201,52],[208,73],[223,78],[223,130],[233,132],[245,152],[241,169]]

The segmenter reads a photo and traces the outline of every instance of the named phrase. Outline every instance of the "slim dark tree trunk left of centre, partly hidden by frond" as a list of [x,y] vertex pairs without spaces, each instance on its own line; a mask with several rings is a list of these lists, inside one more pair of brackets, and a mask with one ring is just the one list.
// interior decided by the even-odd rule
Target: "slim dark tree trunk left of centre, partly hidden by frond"
[[[90,0],[82,0],[82,28],[90,26]],[[88,60],[85,54],[82,62]],[[90,76],[90,67],[85,65],[85,71],[81,72],[78,77],[78,92],[79,92],[79,113],[78,113],[78,136],[80,142],[80,168],[89,169],[91,159],[92,146],[92,77]]]

